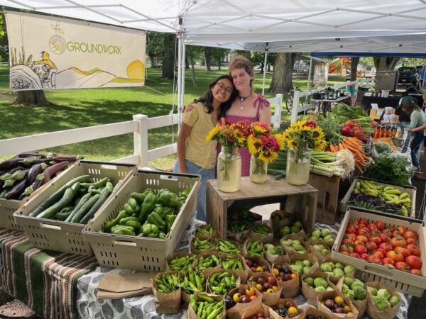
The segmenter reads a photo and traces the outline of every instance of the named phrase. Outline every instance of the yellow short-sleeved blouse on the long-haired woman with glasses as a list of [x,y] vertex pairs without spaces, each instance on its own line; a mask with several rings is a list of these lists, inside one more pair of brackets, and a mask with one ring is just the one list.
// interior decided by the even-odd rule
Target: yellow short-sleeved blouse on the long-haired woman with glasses
[[217,160],[217,141],[206,141],[207,134],[214,127],[210,116],[203,103],[195,103],[194,108],[182,116],[182,122],[192,126],[185,143],[185,159],[202,168],[214,167]]

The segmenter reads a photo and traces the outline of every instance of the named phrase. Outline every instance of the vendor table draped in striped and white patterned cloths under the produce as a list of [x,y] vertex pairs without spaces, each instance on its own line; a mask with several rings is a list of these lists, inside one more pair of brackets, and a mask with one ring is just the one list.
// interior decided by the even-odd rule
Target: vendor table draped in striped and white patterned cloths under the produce
[[[195,228],[194,220],[185,233],[179,251],[189,252]],[[329,228],[337,235],[340,224],[317,223],[318,228]],[[185,319],[186,310],[176,314],[155,313],[153,294],[132,298],[97,301],[97,284],[109,272],[126,274],[129,270],[96,267],[94,257],[38,250],[31,245],[25,233],[0,230],[0,269],[3,288],[31,306],[45,318],[114,318],[114,319]],[[395,318],[408,318],[411,296],[400,294],[401,306]],[[307,308],[301,294],[293,298]],[[365,315],[364,319],[367,318]]]

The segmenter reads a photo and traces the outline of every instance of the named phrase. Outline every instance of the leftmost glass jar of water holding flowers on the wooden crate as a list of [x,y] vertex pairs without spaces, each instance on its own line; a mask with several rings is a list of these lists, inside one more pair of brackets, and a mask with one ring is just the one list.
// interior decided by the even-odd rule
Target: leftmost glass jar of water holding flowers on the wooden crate
[[238,147],[224,147],[217,155],[217,188],[232,193],[241,186],[241,155]]

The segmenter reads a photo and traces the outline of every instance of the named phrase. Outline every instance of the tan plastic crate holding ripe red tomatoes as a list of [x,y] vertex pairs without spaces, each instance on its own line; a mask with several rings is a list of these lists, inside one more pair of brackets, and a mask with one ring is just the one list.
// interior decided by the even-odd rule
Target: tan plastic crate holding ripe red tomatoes
[[[346,256],[339,252],[339,247],[344,238],[346,226],[351,219],[365,218],[368,222],[374,223],[381,220],[385,223],[385,227],[405,226],[417,231],[418,246],[420,247],[420,258],[422,259],[422,276],[403,272],[398,269],[390,269],[381,264],[367,262],[351,256]],[[382,216],[380,213],[367,213],[364,211],[355,211],[351,208],[346,211],[342,225],[340,227],[337,238],[332,248],[332,259],[344,264],[351,264],[358,270],[357,276],[364,281],[378,281],[381,284],[389,286],[391,289],[409,293],[410,295],[421,297],[426,289],[426,229],[422,220],[414,220],[403,216],[388,217]]]

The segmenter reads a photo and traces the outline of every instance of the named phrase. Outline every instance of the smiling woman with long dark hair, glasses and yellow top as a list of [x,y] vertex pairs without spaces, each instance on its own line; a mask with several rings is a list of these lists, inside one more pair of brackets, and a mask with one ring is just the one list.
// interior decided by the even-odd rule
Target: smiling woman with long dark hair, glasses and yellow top
[[234,84],[229,75],[215,79],[208,91],[195,101],[191,111],[183,113],[178,135],[178,162],[174,172],[201,175],[197,197],[197,219],[206,221],[207,181],[215,178],[217,142],[206,141],[209,131],[225,116],[234,101]]

